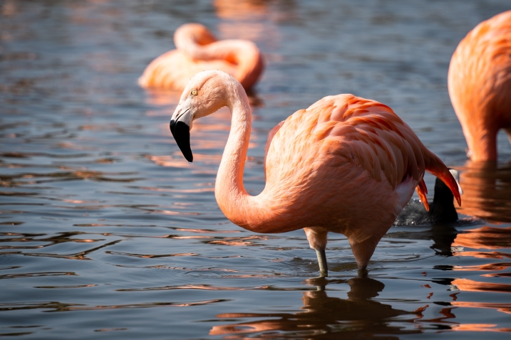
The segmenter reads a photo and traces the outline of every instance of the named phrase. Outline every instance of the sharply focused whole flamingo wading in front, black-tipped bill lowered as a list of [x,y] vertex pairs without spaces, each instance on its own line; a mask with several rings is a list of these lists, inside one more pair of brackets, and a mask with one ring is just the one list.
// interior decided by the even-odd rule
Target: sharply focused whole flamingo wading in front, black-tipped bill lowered
[[277,124],[267,139],[266,185],[251,196],[243,186],[252,112],[242,85],[221,71],[197,73],[182,92],[170,131],[193,161],[194,119],[227,106],[231,130],[215,197],[232,223],[257,233],[303,228],[316,250],[320,277],[328,275],[327,233],[346,235],[359,270],[417,187],[428,207],[424,170],[440,177],[458,204],[458,184],[390,107],[354,95],[324,97]]

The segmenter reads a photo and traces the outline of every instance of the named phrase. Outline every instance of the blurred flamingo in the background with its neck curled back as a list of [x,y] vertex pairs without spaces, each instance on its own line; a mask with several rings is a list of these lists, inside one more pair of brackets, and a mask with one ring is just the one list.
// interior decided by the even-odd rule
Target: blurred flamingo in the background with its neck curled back
[[200,23],[187,23],[174,33],[176,50],[153,60],[138,78],[141,87],[182,90],[195,73],[222,70],[243,87],[252,87],[264,69],[259,48],[246,40],[217,41]]

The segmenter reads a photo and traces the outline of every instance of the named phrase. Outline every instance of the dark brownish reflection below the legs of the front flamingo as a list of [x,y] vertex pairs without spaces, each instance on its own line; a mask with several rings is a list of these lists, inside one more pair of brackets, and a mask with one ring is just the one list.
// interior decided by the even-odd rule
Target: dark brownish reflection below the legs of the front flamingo
[[[336,283],[339,283],[336,282]],[[393,325],[394,318],[411,314],[409,319],[399,322],[413,323],[421,317],[424,308],[415,312],[394,309],[391,304],[373,301],[383,290],[382,282],[368,277],[356,277],[347,281],[351,287],[348,299],[329,297],[324,290],[310,290],[303,293],[302,312],[289,313],[225,313],[217,318],[257,318],[253,322],[213,326],[210,335],[249,334],[272,331],[264,338],[279,338],[291,333],[293,336],[307,336],[310,339],[325,334],[341,333],[346,336],[367,334],[415,334],[418,329],[406,329]],[[264,319],[261,319],[264,318]],[[277,332],[277,333],[276,333]],[[340,334],[339,334],[340,335]],[[242,336],[242,335],[240,335]],[[229,337],[229,339],[237,339]],[[397,338],[396,338],[397,339]]]

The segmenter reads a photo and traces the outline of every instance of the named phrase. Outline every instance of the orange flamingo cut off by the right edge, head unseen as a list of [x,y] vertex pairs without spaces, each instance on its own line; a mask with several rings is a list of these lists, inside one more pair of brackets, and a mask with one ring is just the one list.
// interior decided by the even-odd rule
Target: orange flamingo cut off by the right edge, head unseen
[[482,21],[450,60],[450,100],[473,161],[497,159],[497,132],[511,141],[511,11]]

